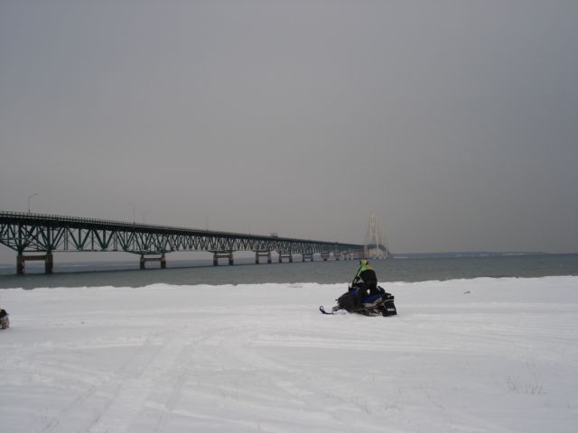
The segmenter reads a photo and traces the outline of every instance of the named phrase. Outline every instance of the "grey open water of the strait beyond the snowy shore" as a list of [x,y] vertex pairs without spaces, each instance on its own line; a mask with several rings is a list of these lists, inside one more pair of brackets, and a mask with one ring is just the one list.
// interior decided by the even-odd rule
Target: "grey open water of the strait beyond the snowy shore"
[[[236,259],[236,264],[209,261],[171,261],[167,269],[147,263],[138,269],[137,261],[117,263],[58,263],[54,273],[43,274],[42,263],[26,263],[25,275],[15,275],[15,265],[0,265],[0,288],[41,287],[143,287],[154,283],[259,284],[266,282],[346,283],[358,268],[357,261],[315,261],[256,265],[254,259]],[[57,256],[55,256],[57,258]],[[225,261],[226,263],[226,261]],[[478,277],[545,277],[578,275],[578,254],[500,255],[487,257],[424,257],[371,260],[380,282],[444,281]]]

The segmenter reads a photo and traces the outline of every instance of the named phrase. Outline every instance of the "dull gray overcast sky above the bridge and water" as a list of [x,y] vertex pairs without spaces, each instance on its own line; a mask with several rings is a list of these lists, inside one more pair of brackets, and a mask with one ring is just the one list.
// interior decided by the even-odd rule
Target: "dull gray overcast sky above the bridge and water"
[[3,0],[0,146],[1,210],[576,252],[578,2]]

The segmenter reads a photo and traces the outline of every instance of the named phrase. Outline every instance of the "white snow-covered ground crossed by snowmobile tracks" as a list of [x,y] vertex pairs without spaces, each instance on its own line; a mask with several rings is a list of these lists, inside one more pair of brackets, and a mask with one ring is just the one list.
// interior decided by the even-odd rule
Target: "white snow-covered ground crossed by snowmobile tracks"
[[578,277],[0,290],[16,432],[575,432]]

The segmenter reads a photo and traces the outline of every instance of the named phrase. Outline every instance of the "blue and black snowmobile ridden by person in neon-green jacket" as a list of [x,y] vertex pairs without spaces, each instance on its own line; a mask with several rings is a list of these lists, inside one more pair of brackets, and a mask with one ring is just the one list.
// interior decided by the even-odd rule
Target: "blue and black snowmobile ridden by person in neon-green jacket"
[[319,310],[323,314],[334,314],[335,311],[345,309],[349,313],[358,313],[363,316],[396,316],[397,309],[394,304],[394,295],[387,293],[378,286],[378,292],[369,294],[361,300],[361,305],[356,302],[359,288],[352,286],[346,293],[343,293],[337,300],[337,305],[331,308],[331,313],[325,311],[323,306]]

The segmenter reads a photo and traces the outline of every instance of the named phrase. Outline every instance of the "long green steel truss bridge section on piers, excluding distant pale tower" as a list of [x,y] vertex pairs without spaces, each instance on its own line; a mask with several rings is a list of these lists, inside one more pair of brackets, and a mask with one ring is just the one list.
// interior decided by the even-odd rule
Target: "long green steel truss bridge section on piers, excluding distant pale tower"
[[16,273],[24,273],[30,260],[44,261],[44,272],[51,273],[53,253],[86,251],[120,251],[140,255],[140,268],[146,262],[160,262],[166,267],[166,254],[179,251],[204,251],[213,254],[213,265],[219,259],[234,264],[233,253],[251,251],[255,263],[260,257],[272,262],[271,253],[278,254],[279,263],[292,263],[294,255],[302,261],[313,261],[320,254],[323,261],[331,255],[335,260],[359,257],[364,245],[294,239],[276,235],[247,235],[185,227],[154,226],[106,219],[90,219],[0,211],[0,244],[14,250]]

